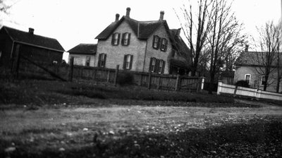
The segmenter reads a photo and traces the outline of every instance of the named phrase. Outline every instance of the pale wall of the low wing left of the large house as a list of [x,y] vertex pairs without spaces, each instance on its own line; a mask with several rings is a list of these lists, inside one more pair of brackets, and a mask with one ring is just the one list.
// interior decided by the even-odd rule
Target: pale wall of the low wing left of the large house
[[[96,56],[90,54],[69,54],[68,61],[70,61],[71,57],[74,57],[73,64],[77,66],[85,66],[86,57],[90,56],[90,66],[95,66],[95,58]],[[70,62],[68,62],[70,63]]]

